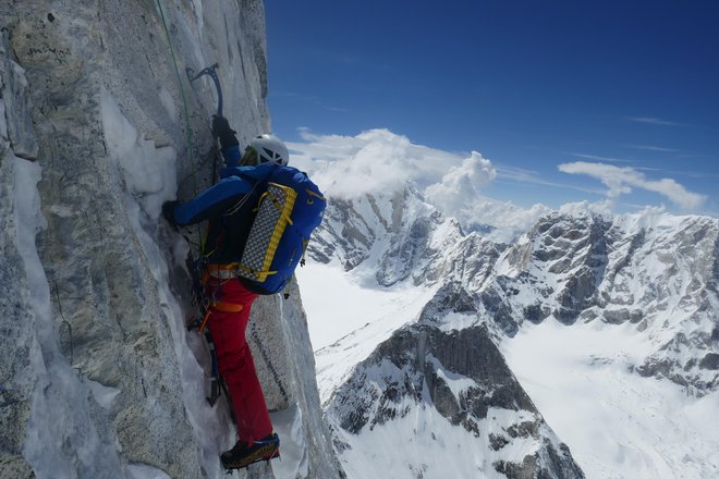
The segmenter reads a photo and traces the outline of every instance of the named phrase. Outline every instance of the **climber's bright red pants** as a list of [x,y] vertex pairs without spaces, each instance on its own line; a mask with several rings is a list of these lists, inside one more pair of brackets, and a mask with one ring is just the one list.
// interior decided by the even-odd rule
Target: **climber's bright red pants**
[[247,291],[237,279],[210,278],[208,288],[210,300],[243,306],[240,312],[214,309],[207,324],[215,342],[220,376],[230,393],[237,435],[241,441],[252,444],[272,432],[265,394],[245,339],[249,310],[257,295]]

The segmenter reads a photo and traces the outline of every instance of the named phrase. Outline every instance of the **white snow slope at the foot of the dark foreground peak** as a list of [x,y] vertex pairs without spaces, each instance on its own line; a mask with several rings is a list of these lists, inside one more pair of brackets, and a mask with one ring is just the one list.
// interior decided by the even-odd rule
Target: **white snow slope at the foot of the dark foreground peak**
[[[532,438],[510,438],[507,433],[509,426],[535,420],[527,412],[490,408],[487,419],[479,422],[479,437],[475,437],[426,404],[405,400],[397,408],[406,414],[357,434],[334,426],[338,439],[344,442],[340,459],[349,479],[505,479],[495,463],[521,464],[539,446]],[[490,435],[505,438],[507,444],[495,451]]]

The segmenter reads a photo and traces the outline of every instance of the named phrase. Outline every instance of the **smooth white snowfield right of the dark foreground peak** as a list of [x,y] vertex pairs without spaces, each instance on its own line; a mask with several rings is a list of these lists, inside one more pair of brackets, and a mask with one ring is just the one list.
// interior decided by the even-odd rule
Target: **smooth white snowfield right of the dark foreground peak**
[[507,361],[587,477],[654,479],[719,472],[719,393],[691,397],[632,372],[651,351],[634,324],[525,323]]

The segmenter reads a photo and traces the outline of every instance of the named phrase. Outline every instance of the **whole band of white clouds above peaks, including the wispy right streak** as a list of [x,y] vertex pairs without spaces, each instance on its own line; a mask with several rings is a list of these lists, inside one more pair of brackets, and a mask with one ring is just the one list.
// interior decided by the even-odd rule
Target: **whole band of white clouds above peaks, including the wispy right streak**
[[[593,211],[611,214],[618,199],[634,189],[654,192],[678,207],[697,210],[706,196],[692,193],[671,179],[653,180],[644,170],[604,162],[576,161],[560,164],[559,171],[583,174],[599,180],[607,191],[548,181],[536,174],[509,167],[498,168],[479,152],[468,155],[443,151],[413,144],[406,136],[389,130],[369,130],[355,136],[317,135],[301,130],[303,142],[288,143],[292,164],[306,171],[330,198],[353,199],[365,194],[391,195],[412,183],[424,198],[444,216],[456,218],[466,230],[487,231],[496,241],[510,241],[525,231],[552,208],[536,204],[523,208],[511,201],[487,196],[487,191],[500,179],[522,185],[547,186],[552,191],[580,191],[587,195],[605,195],[590,202],[559,207],[572,213]],[[590,158],[586,156],[586,158]],[[638,206],[641,208],[641,206]]]

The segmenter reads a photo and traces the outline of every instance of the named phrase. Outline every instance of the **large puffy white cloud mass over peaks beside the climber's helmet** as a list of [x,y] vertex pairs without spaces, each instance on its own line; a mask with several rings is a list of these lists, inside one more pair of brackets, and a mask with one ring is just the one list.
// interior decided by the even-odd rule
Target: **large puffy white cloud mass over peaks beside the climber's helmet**
[[[300,131],[304,143],[289,143],[291,162],[306,171],[330,197],[353,198],[365,193],[391,193],[412,182],[443,214],[465,228],[491,225],[491,236],[509,241],[550,209],[524,209],[483,195],[498,172],[473,151],[468,157],[415,145],[388,130],[356,136],[316,135]],[[513,175],[515,176],[515,175]]]

